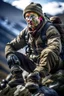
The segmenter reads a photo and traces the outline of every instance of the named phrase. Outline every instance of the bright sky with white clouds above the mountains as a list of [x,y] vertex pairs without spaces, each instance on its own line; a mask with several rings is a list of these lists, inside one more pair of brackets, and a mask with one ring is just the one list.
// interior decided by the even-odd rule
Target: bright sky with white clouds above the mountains
[[40,3],[44,13],[56,15],[64,13],[64,0],[4,0],[19,9],[24,9],[30,2]]

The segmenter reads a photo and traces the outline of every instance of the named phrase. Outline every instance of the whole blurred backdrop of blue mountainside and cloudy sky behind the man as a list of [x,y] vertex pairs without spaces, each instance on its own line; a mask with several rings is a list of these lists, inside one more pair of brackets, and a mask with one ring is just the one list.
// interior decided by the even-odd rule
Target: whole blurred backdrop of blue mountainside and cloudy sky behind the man
[[[15,38],[26,26],[23,9],[30,2],[40,3],[43,12],[48,16],[59,16],[64,28],[63,0],[0,0],[0,81],[10,72],[5,57],[6,43]],[[19,51],[24,53],[24,49]]]

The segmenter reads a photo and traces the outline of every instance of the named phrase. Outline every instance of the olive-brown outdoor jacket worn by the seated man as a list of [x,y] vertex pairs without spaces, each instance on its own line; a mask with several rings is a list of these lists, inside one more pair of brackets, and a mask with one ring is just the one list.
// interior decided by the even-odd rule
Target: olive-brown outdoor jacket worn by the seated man
[[[45,21],[41,28],[37,31],[36,36],[33,37],[28,28],[23,29],[20,34],[11,42],[7,43],[5,47],[5,55],[14,53],[15,51],[25,47],[27,44],[30,46],[29,58],[34,60],[34,58],[42,58],[45,49],[53,51],[59,56],[62,50],[62,44],[60,40],[60,34],[54,26],[50,26],[46,31],[46,40],[41,39],[41,31],[47,21]],[[29,34],[29,35],[26,35]],[[28,39],[26,39],[28,38]],[[43,46],[45,43],[46,46]],[[45,57],[46,58],[46,57]],[[41,61],[42,62],[42,61]],[[46,62],[46,61],[45,61]],[[39,69],[40,70],[40,69]]]

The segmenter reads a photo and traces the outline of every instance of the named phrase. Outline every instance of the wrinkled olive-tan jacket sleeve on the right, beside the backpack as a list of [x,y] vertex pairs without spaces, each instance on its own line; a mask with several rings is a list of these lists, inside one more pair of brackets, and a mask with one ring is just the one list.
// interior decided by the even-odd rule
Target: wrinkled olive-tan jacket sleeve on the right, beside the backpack
[[54,26],[50,26],[47,30],[47,49],[52,50],[59,55],[62,50],[61,36]]

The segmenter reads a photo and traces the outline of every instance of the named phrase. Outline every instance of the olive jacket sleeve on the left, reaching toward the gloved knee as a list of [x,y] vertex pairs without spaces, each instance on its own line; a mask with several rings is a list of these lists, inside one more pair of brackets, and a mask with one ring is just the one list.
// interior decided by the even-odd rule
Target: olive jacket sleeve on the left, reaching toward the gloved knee
[[26,28],[22,30],[16,38],[14,38],[11,42],[8,42],[6,44],[5,46],[6,57],[8,54],[14,53],[15,51],[18,51],[19,49],[23,48],[26,45],[25,31],[26,31]]

